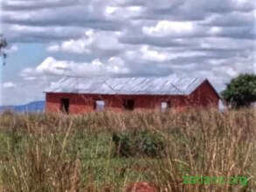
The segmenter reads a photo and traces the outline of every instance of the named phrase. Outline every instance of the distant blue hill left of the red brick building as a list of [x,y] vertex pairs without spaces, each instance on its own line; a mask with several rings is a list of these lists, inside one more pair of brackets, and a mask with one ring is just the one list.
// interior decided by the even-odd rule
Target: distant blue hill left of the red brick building
[[31,103],[21,105],[21,106],[0,106],[0,112],[3,112],[6,109],[10,109],[17,113],[35,113],[35,112],[44,112],[45,101],[33,101]]

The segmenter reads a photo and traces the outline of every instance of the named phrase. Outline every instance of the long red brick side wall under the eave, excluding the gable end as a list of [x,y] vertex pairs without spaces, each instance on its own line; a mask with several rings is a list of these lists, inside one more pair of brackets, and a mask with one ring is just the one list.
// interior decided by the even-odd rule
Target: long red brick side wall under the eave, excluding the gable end
[[46,93],[45,112],[57,113],[60,99],[70,99],[70,113],[86,113],[94,110],[94,100],[105,100],[105,109],[121,111],[122,99],[135,99],[135,109],[160,109],[162,100],[170,100],[171,107],[183,109],[188,105],[185,96],[156,96],[156,95],[98,95],[77,93]]

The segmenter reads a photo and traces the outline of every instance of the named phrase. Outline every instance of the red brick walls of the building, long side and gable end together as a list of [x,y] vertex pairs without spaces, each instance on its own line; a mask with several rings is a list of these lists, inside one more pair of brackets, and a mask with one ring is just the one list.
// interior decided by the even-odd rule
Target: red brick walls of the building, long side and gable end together
[[94,110],[94,100],[105,100],[105,109],[121,111],[122,99],[135,99],[135,109],[159,109],[161,101],[170,100],[171,107],[183,111],[188,106],[218,106],[218,95],[206,81],[189,96],[156,96],[156,95],[107,95],[77,93],[46,93],[45,112],[57,113],[60,99],[70,99],[69,113],[86,113]]

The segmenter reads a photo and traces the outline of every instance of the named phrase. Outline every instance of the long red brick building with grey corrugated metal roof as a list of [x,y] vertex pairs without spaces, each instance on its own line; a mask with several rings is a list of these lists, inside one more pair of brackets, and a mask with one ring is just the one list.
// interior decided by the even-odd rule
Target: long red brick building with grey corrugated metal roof
[[189,106],[216,106],[219,96],[207,79],[72,78],[45,91],[45,112],[86,113],[93,110],[182,111]]

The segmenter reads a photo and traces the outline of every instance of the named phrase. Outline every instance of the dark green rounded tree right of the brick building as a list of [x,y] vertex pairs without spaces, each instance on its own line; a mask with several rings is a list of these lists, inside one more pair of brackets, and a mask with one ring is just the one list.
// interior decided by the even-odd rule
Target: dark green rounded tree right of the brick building
[[251,106],[256,101],[256,75],[240,74],[226,85],[221,96],[232,108]]

